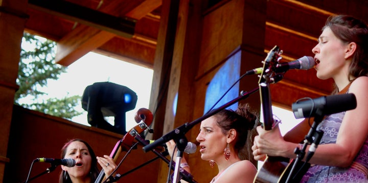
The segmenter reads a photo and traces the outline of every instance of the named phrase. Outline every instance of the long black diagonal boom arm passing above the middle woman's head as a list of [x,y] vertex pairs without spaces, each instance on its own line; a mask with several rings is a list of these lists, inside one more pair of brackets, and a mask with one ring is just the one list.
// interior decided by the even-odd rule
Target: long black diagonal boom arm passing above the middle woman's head
[[159,139],[155,140],[153,143],[148,144],[146,146],[143,147],[143,150],[145,152],[152,150],[153,148],[159,146],[160,144],[166,143],[171,139],[177,138],[177,137],[182,137],[184,134],[186,134],[189,129],[191,129],[194,125],[200,123],[201,121],[203,121],[204,119],[207,119],[211,116],[213,116],[214,114],[220,112],[223,109],[226,109],[227,107],[231,106],[232,104],[238,102],[239,100],[245,99],[247,98],[250,94],[255,93],[256,91],[259,90],[259,87],[256,87],[255,89],[252,89],[249,92],[241,92],[241,95],[227,103],[225,103],[223,106],[214,109],[212,111],[210,111],[209,113],[206,113],[205,115],[201,116],[200,118],[190,122],[190,123],[185,123],[182,124],[181,126],[175,128],[174,130],[172,130],[171,132],[167,133],[166,135],[160,137]]

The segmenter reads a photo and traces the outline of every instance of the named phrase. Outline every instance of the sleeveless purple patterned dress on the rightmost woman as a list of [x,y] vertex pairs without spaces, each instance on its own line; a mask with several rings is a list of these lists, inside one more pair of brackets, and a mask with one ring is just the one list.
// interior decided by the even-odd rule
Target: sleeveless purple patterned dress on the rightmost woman
[[[324,135],[319,144],[336,143],[337,134],[345,112],[327,116],[318,125]],[[354,140],[354,139],[352,139]],[[368,140],[360,149],[353,164],[347,168],[312,165],[301,182],[368,182]]]

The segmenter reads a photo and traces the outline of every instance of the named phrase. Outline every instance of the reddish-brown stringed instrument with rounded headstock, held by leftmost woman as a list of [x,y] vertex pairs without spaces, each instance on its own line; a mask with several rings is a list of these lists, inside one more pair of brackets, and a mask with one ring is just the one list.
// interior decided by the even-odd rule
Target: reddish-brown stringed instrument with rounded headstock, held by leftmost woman
[[[109,155],[114,161],[116,161],[121,151],[128,151],[134,145],[134,143],[136,142],[135,136],[143,133],[148,128],[148,126],[151,125],[153,121],[153,114],[150,110],[141,108],[135,113],[134,120],[138,124],[131,128],[129,132],[116,143]],[[104,177],[105,172],[101,170],[100,174],[95,180],[95,183],[101,183]]]

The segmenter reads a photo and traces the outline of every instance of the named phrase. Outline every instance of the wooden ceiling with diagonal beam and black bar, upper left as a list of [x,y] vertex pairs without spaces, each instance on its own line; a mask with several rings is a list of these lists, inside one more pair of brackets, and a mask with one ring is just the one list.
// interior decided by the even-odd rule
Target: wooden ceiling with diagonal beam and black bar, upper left
[[57,63],[67,66],[96,51],[152,68],[162,1],[28,2],[26,31],[58,43]]

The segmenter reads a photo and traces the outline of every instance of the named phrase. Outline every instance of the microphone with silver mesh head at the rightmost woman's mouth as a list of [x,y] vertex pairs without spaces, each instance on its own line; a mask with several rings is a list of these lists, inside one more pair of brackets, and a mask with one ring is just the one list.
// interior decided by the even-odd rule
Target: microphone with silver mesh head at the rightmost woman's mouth
[[315,62],[313,57],[304,56],[300,59],[297,59],[292,62],[283,62],[279,63],[276,68],[274,68],[275,72],[285,72],[289,69],[303,69],[308,70],[314,66]]

